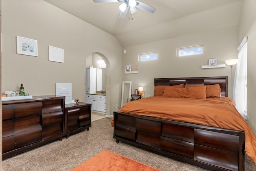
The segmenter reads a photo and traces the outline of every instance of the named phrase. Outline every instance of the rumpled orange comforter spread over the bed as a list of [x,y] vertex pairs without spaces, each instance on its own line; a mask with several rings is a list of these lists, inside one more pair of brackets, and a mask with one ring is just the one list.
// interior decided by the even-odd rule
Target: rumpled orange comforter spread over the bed
[[126,103],[119,111],[244,131],[246,154],[256,163],[256,137],[236,110],[234,100],[228,97],[192,99],[154,96]]

